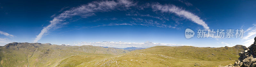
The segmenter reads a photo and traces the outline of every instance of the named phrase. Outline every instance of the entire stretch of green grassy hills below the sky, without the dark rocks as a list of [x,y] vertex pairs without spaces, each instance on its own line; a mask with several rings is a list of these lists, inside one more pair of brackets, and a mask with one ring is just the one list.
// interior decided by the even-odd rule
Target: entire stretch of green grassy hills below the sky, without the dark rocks
[[0,66],[218,66],[233,64],[245,48],[242,45],[220,48],[155,46],[124,50],[92,45],[14,42],[0,47]]

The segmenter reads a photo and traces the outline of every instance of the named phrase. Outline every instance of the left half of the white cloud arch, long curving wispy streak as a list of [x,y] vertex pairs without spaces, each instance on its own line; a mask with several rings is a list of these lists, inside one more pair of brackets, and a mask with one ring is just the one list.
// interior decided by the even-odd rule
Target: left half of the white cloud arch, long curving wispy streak
[[[95,12],[107,12],[111,10],[126,10],[129,9],[130,6],[134,6],[136,3],[128,0],[117,0],[117,1],[94,1],[92,3],[88,3],[85,5],[81,5],[79,7],[72,8],[70,10],[66,10],[63,13],[57,15],[50,21],[50,24],[41,30],[41,32],[36,36],[34,42],[40,40],[43,35],[49,30],[54,29],[56,27],[60,27],[58,25],[62,25],[68,20],[70,17],[81,16],[82,18],[90,17],[95,15]],[[117,7],[122,7],[124,9],[117,9]]]

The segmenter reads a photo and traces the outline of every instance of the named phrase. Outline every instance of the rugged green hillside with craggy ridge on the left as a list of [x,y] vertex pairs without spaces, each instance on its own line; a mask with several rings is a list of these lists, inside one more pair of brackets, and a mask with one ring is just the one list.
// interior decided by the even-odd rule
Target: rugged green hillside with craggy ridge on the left
[[[0,64],[13,66],[56,66],[70,56],[111,57],[129,51],[98,46],[59,46],[40,43],[10,43],[0,48]],[[92,58],[90,58],[92,59]]]

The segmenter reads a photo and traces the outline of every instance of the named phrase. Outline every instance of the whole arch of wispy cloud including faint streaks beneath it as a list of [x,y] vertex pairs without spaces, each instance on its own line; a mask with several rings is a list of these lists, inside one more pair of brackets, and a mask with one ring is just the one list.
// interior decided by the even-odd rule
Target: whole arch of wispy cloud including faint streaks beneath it
[[[34,42],[37,42],[44,35],[47,35],[47,33],[49,33],[50,30],[60,28],[63,25],[68,24],[69,21],[74,21],[72,19],[72,17],[80,16],[81,18],[87,18],[87,17],[91,17],[91,16],[96,16],[95,13],[97,13],[97,12],[108,12],[108,11],[113,11],[113,10],[128,10],[128,9],[131,9],[131,6],[135,6],[135,5],[136,5],[136,7],[143,6],[143,5],[137,5],[137,2],[130,1],[130,0],[116,0],[116,1],[105,0],[105,1],[94,1],[91,3],[87,3],[84,5],[75,7],[75,8],[71,8],[70,10],[66,10],[66,11],[61,10],[60,12],[62,12],[62,13],[60,13],[58,15],[55,14],[52,16],[53,19],[50,21],[50,24],[45,26],[41,30],[41,32],[34,39]],[[186,17],[187,19],[193,21],[194,23],[202,25],[204,27],[204,29],[209,29],[208,25],[202,19],[200,19],[200,17],[196,16],[195,14],[193,14],[189,11],[182,10],[181,8],[178,8],[174,5],[167,5],[167,4],[161,5],[159,3],[153,3],[153,4],[146,3],[145,5],[146,6],[141,7],[141,8],[152,8],[153,11],[160,10],[162,12],[171,12],[171,13],[178,15],[179,17]],[[139,10],[140,10],[140,8],[139,8]],[[140,18],[136,18],[136,19],[132,18],[134,21],[131,21],[130,23],[109,23],[109,24],[97,25],[97,26],[92,26],[92,27],[113,26],[113,25],[143,25],[143,26],[157,26],[157,27],[161,27],[161,28],[180,29],[180,28],[177,28],[177,25],[182,24],[177,21],[176,21],[176,24],[174,23],[173,25],[164,24],[165,21],[163,19],[168,21],[169,20],[168,18],[155,17],[155,16],[151,16],[149,14],[140,15],[140,16],[157,18],[157,19],[160,19],[160,21],[156,21],[156,20],[153,21],[150,19],[140,20]],[[116,19],[117,18],[112,18],[112,20],[116,20]],[[96,21],[94,21],[94,22],[96,22]],[[136,22],[136,23],[134,23],[134,22]],[[92,27],[83,27],[83,28],[92,28]]]

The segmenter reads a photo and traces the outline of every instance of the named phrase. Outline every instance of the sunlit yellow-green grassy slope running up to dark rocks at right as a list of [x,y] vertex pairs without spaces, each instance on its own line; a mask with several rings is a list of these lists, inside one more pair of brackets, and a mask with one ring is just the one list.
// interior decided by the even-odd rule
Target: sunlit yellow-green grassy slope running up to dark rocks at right
[[155,46],[79,66],[218,66],[233,64],[241,45],[234,47]]

